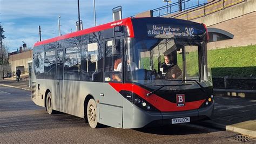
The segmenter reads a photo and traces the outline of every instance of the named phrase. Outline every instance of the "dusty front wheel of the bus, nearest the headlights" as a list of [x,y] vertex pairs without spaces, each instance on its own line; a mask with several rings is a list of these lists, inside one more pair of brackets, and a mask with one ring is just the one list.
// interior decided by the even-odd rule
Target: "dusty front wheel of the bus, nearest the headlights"
[[91,128],[97,127],[97,107],[94,99],[90,99],[87,104],[87,120]]

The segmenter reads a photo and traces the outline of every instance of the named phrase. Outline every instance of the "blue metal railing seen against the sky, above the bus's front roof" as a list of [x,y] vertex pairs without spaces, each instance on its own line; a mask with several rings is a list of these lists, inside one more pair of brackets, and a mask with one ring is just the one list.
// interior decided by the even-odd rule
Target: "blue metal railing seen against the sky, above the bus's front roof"
[[169,15],[171,13],[175,13],[180,11],[179,5],[181,5],[181,11],[189,10],[193,8],[197,8],[198,6],[204,5],[206,3],[200,3],[199,0],[186,0],[181,3],[176,2],[172,4],[168,4],[165,6],[161,6],[160,8],[156,8],[152,10],[153,17],[161,17],[165,15]]

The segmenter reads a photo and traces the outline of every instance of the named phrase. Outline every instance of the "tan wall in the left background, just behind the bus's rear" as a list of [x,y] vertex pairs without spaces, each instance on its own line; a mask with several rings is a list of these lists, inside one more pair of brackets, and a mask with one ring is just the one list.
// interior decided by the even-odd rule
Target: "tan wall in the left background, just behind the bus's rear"
[[17,66],[24,66],[24,68],[27,69],[29,65],[28,61],[32,60],[32,54],[32,50],[29,50],[9,56],[11,71],[16,71]]

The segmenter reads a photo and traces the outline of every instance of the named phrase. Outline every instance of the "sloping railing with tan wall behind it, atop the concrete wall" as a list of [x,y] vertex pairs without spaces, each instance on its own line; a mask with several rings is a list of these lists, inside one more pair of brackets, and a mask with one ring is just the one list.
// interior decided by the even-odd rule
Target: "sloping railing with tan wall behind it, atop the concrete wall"
[[246,2],[247,0],[220,0],[220,1],[214,1],[211,3],[204,4],[203,6],[200,6],[199,8],[196,8],[194,10],[186,10],[183,12],[178,13],[177,15],[173,15],[170,18],[178,18],[178,19],[185,19],[185,20],[192,20],[199,17],[205,17],[207,15],[210,15],[211,13],[225,10],[226,8]]

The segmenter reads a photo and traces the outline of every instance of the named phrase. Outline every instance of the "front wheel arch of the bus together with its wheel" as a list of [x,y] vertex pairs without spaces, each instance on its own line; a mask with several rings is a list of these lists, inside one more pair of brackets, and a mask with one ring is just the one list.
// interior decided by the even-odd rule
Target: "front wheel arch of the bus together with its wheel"
[[92,128],[96,128],[99,125],[97,122],[96,101],[92,95],[87,95],[84,100],[84,119]]

